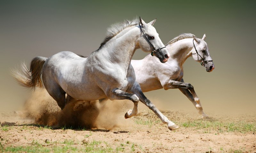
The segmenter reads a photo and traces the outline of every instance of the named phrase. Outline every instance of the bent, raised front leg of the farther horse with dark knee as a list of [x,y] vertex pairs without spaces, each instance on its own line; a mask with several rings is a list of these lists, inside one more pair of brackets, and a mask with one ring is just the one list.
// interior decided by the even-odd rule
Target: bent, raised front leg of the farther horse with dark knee
[[177,88],[178,89],[183,88],[183,89],[189,90],[191,92],[191,94],[193,95],[193,99],[194,99],[193,101],[196,102],[196,107],[197,108],[202,107],[201,103],[200,103],[200,100],[197,97],[196,92],[194,90],[194,87],[189,83],[185,83],[183,81],[183,79],[181,79],[181,81],[168,80],[167,82],[165,82],[162,85],[163,85],[164,90],[177,89]]

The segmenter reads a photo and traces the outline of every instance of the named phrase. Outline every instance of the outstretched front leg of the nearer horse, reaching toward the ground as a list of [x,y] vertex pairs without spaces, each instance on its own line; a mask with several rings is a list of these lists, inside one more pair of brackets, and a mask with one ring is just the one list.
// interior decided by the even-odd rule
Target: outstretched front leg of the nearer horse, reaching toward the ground
[[172,121],[168,120],[168,118],[166,116],[164,116],[157,108],[156,106],[143,94],[143,92],[141,91],[140,85],[135,81],[135,83],[133,84],[132,88],[129,90],[130,92],[136,94],[140,101],[145,104],[146,106],[148,106],[149,109],[151,109],[159,118],[160,120],[167,124],[167,127],[170,130],[175,130],[177,128],[179,128],[178,125],[176,125],[175,123],[173,123]]

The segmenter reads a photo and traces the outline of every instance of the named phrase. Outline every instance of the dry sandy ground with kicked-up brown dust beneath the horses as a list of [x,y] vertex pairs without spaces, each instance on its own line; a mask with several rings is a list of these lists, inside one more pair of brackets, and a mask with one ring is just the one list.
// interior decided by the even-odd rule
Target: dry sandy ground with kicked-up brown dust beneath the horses
[[[70,146],[79,150],[95,142],[94,148],[112,148],[109,150],[112,152],[256,152],[255,131],[186,127],[183,123],[201,121],[196,112],[162,110],[180,126],[170,131],[142,105],[137,117],[124,119],[132,106],[130,101],[108,101],[101,108],[97,102],[78,101],[60,111],[49,95],[36,93],[26,102],[24,110],[0,113],[2,151],[7,147],[35,145],[35,142],[48,148],[65,147],[68,145],[65,142],[70,142]],[[242,121],[255,126],[256,114],[208,115],[210,123]]]

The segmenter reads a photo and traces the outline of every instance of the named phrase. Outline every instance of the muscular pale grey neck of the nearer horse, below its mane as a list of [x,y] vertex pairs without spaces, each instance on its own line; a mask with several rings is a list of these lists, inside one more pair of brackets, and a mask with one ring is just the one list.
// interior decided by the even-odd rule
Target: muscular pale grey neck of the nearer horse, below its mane
[[111,38],[99,51],[104,54],[106,60],[128,69],[132,56],[138,49],[135,42],[139,36],[138,27],[128,27]]

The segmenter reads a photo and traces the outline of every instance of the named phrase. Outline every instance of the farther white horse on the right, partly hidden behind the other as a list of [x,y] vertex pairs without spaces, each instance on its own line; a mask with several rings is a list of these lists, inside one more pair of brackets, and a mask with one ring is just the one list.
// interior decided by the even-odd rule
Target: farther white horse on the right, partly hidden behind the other
[[202,39],[198,39],[191,33],[185,33],[174,38],[166,45],[170,59],[164,64],[151,55],[147,55],[142,60],[132,60],[136,81],[142,91],[178,88],[194,104],[198,113],[202,117],[207,117],[193,86],[183,80],[183,63],[190,56],[195,61],[201,62],[207,72],[214,69],[208,45],[204,41],[205,37],[204,34]]

